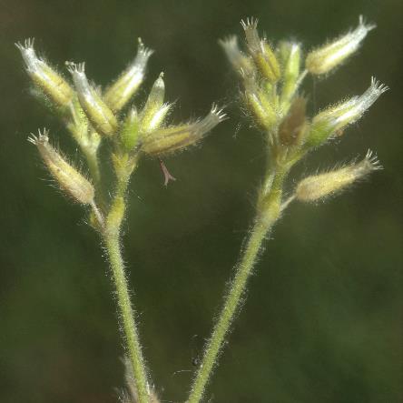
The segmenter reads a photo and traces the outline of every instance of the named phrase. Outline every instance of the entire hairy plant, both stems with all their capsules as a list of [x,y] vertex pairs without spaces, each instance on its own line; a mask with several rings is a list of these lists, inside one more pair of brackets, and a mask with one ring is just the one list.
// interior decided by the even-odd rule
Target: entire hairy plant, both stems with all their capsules
[[[274,46],[266,37],[260,37],[257,20],[248,19],[241,25],[246,38],[245,50],[241,50],[235,36],[220,43],[241,81],[241,104],[253,126],[264,136],[267,166],[258,191],[256,217],[211,338],[197,363],[188,403],[197,403],[203,398],[257,257],[284,210],[293,201],[315,203],[339,194],[381,168],[377,157],[369,151],[359,162],[354,160],[302,178],[290,193],[285,188],[290,170],[301,159],[336,136],[342,136],[345,129],[357,122],[388,89],[372,78],[369,88],[361,96],[328,106],[312,117],[307,115],[307,97],[300,94],[306,76],[326,76],[342,65],[359,49],[374,25],[365,24],[360,17],[356,29],[313,49],[305,57],[299,43],[284,41]],[[122,399],[126,403],[156,403],[160,400],[144,364],[123,265],[121,235],[128,203],[127,190],[131,176],[146,156],[160,159],[166,185],[173,177],[161,158],[199,143],[226,116],[217,106],[212,106],[210,113],[202,119],[168,125],[166,122],[173,105],[164,102],[163,74],[154,82],[142,108],[127,108],[143,83],[145,68],[152,55],[140,40],[133,63],[104,90],[89,83],[84,64],[67,63],[72,85],[35,54],[34,41],[27,40],[17,47],[23,55],[36,94],[44,98],[64,121],[87,163],[88,176],[51,146],[47,130],[29,137],[64,192],[88,207],[88,222],[100,234],[109,257],[128,356],[128,389]],[[115,176],[111,197],[107,196],[103,160],[98,152],[103,144],[110,152]]]

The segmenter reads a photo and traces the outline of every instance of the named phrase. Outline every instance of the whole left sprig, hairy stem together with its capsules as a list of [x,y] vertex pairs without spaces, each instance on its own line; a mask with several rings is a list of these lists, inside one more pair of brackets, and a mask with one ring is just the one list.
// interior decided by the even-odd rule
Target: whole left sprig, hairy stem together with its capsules
[[[62,118],[87,162],[89,177],[50,144],[46,129],[39,131],[37,136],[31,134],[28,137],[64,193],[75,202],[91,208],[89,223],[103,239],[122,320],[127,366],[130,367],[130,382],[122,401],[157,403],[159,399],[151,387],[143,359],[122,257],[122,224],[127,209],[128,186],[143,156],[160,159],[167,185],[174,177],[161,158],[198,144],[226,116],[213,104],[209,114],[203,118],[170,125],[167,120],[173,104],[165,101],[163,73],[153,83],[141,107],[130,105],[143,84],[147,62],[152,55],[152,50],[147,49],[140,39],[133,62],[105,89],[94,86],[88,80],[84,63],[66,62],[72,76],[69,82],[36,55],[34,40],[27,39],[24,44],[16,46],[34,84],[34,93]],[[101,169],[103,161],[98,152],[103,143],[109,145],[115,174],[114,190],[108,192]]]

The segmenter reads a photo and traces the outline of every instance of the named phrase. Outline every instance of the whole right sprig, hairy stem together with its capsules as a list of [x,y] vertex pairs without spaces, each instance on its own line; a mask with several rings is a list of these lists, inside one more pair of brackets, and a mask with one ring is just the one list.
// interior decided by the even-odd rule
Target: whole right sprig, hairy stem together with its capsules
[[378,96],[387,90],[386,86],[372,78],[369,89],[362,96],[329,106],[313,117],[307,116],[307,99],[299,94],[305,76],[326,75],[341,65],[356,52],[374,26],[366,25],[360,17],[356,29],[312,50],[305,55],[303,62],[299,43],[284,41],[278,45],[271,44],[266,37],[260,37],[258,22],[253,18],[242,21],[241,25],[245,33],[245,50],[238,45],[236,36],[221,40],[220,44],[241,80],[243,108],[264,135],[268,165],[259,189],[256,216],[241,249],[221,313],[206,343],[188,403],[202,400],[265,239],[284,209],[293,200],[316,202],[338,194],[370,172],[380,169],[378,159],[369,151],[360,162],[354,161],[303,178],[290,196],[284,196],[291,167],[310,151],[333,136],[339,136],[347,126],[357,122]]

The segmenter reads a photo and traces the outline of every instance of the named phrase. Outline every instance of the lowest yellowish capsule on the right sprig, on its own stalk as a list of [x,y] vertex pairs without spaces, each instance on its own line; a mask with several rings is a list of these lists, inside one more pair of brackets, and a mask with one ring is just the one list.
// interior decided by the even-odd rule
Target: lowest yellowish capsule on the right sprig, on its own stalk
[[334,195],[349,185],[369,175],[372,171],[382,169],[376,156],[369,151],[359,163],[302,179],[295,190],[295,198],[302,202],[315,202]]

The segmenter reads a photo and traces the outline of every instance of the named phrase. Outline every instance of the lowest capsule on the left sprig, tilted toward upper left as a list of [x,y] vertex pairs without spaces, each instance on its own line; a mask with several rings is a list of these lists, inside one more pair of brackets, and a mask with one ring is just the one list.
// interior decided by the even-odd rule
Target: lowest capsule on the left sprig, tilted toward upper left
[[74,198],[75,201],[84,205],[92,205],[94,189],[80,172],[64,160],[53,146],[49,144],[48,132],[44,130],[42,134],[39,131],[38,136],[28,137],[28,141],[38,148],[39,154],[44,160],[52,176],[57,181],[64,192]]

